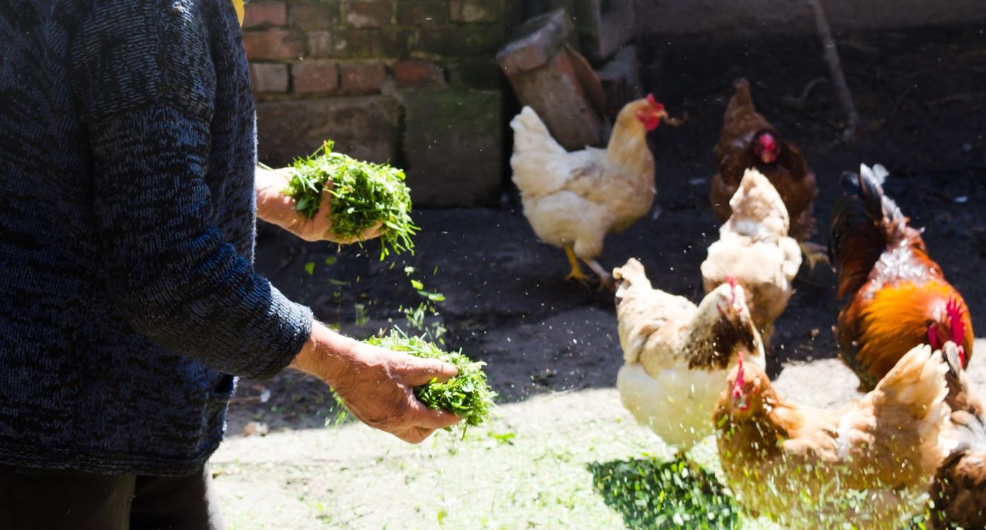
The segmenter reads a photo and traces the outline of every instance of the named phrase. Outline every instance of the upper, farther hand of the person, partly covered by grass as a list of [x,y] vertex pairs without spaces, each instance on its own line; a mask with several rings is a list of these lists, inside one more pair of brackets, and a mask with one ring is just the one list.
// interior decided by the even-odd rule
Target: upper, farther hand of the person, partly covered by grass
[[[332,241],[354,243],[380,235],[380,226],[368,229],[356,237],[343,237],[332,231],[329,204],[332,196],[322,191],[321,204],[313,219],[305,219],[295,209],[295,200],[284,194],[288,179],[294,171],[291,167],[279,169],[256,168],[256,215],[260,219],[294,233],[306,241]],[[328,183],[331,186],[331,183]]]

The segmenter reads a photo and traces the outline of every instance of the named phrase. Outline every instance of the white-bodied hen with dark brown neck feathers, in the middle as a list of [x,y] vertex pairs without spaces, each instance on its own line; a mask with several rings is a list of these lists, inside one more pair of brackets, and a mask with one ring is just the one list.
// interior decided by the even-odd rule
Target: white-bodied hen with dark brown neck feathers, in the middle
[[696,306],[651,287],[635,259],[615,269],[616,317],[623,361],[616,376],[623,405],[638,422],[684,452],[712,434],[712,411],[737,364],[764,364],[763,344],[735,282]]

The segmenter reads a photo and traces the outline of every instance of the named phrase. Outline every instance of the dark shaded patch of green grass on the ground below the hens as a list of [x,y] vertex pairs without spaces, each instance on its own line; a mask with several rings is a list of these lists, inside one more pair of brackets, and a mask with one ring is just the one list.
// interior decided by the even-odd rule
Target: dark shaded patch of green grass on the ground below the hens
[[716,477],[678,459],[635,459],[589,465],[605,503],[627,528],[740,528],[740,507]]

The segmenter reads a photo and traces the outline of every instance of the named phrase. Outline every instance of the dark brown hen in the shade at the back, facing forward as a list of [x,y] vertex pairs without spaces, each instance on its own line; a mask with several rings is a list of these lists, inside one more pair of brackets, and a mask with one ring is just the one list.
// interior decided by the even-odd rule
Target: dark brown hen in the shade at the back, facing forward
[[827,261],[821,247],[805,242],[814,230],[811,204],[818,193],[814,173],[798,146],[782,140],[777,129],[753,108],[749,83],[738,79],[733,87],[736,94],[726,107],[723,130],[715,148],[718,171],[709,190],[716,217],[723,223],[730,218],[730,199],[740,187],[743,172],[755,167],[784,200],[791,219],[788,235],[801,244],[810,266],[814,267],[819,260]]

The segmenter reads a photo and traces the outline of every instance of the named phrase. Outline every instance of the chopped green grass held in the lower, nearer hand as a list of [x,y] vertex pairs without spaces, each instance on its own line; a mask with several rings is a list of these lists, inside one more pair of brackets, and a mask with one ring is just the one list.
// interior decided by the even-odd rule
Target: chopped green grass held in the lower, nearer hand
[[414,396],[432,409],[458,415],[462,419],[463,436],[467,428],[489,419],[496,392],[486,383],[486,374],[482,370],[485,363],[473,363],[461,352],[445,352],[421,337],[408,337],[400,330],[392,330],[386,337],[371,337],[365,342],[393,352],[455,364],[458,375],[444,383],[432,381],[418,386],[414,389]]

